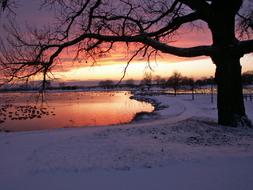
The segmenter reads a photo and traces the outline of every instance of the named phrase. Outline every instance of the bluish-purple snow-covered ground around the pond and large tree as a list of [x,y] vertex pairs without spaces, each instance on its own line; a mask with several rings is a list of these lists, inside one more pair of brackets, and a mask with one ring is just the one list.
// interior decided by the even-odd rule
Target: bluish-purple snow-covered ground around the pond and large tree
[[145,121],[0,133],[0,189],[253,189],[253,129],[218,126],[209,95],[148,98]]

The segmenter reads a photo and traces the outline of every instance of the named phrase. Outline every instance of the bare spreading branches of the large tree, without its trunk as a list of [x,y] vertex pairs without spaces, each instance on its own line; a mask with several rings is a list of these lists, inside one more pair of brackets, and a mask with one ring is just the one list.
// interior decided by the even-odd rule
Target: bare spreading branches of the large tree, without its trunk
[[[28,32],[21,32],[17,24],[10,23],[7,27],[9,37],[1,43],[0,70],[11,78],[41,74],[45,81],[47,73],[60,62],[66,49],[75,48],[73,60],[95,63],[97,58],[110,53],[122,42],[127,46],[136,45],[126,68],[141,53],[148,61],[158,52],[180,57],[212,56],[221,49],[214,46],[175,47],[169,40],[186,23],[199,19],[208,22],[215,2],[44,0],[43,6],[55,10],[58,23],[44,29],[29,28]],[[247,24],[249,27],[251,20]],[[231,53],[250,53],[252,43],[250,40],[235,42],[223,49]]]

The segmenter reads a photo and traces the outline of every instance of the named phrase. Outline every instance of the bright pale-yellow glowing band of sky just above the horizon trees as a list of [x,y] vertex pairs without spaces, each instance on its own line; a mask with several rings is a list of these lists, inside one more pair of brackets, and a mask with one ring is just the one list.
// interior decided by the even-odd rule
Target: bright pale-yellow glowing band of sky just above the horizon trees
[[[243,72],[253,70],[252,55],[242,58]],[[199,60],[189,60],[177,63],[169,63],[166,61],[151,62],[152,75],[168,77],[174,71],[181,72],[184,76],[201,78],[214,76],[215,65],[211,59],[203,58]],[[119,80],[123,76],[126,63],[115,63],[111,65],[86,66],[72,68],[66,72],[56,72],[56,77],[62,80],[101,80],[112,79]],[[132,62],[128,69],[125,79],[141,79],[145,71],[150,72],[147,62]]]

